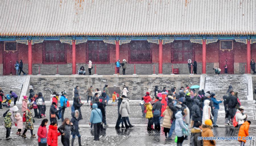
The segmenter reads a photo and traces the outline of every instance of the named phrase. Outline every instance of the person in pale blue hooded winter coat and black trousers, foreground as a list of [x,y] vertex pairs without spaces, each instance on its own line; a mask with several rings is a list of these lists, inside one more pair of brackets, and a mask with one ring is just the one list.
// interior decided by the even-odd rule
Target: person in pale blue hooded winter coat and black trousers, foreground
[[183,117],[185,117],[185,113],[179,111],[175,114],[175,117],[176,117],[175,134],[178,137],[177,146],[181,146],[185,138],[183,136],[182,129],[185,129],[186,131],[188,131],[188,128],[183,124]]

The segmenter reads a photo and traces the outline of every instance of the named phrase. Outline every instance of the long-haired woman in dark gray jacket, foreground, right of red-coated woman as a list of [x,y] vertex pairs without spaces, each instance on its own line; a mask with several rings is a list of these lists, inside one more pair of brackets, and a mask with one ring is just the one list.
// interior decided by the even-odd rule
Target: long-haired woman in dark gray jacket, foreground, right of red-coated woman
[[65,118],[58,131],[61,133],[61,143],[63,146],[69,146],[70,132],[74,129],[73,123],[70,122],[69,118]]

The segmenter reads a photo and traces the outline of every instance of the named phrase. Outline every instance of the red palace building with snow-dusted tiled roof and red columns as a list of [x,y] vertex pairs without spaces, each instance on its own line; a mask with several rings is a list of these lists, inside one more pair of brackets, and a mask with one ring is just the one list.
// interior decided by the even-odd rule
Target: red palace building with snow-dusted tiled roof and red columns
[[0,75],[245,74],[255,50],[256,0],[0,0]]

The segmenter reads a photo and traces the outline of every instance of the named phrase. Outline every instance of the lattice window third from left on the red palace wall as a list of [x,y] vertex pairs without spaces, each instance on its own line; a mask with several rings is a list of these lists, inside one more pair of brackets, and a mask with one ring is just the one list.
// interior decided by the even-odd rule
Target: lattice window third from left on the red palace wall
[[130,43],[130,59],[131,63],[151,63],[152,51],[150,43],[147,41],[131,41]]

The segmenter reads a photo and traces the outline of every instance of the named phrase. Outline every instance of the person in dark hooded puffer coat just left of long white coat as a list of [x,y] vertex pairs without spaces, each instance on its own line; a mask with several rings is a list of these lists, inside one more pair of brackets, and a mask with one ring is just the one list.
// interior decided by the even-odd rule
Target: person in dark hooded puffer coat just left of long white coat
[[[191,110],[191,113],[192,113],[192,120],[194,121],[194,125],[193,127],[195,127],[195,125],[202,121],[202,118],[201,118],[201,110],[199,108],[199,100],[198,99],[194,99],[194,103],[193,103],[193,106],[192,106],[192,110]],[[192,125],[191,125],[192,126]]]

